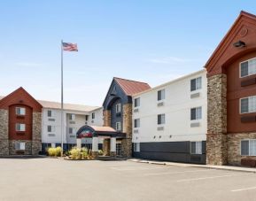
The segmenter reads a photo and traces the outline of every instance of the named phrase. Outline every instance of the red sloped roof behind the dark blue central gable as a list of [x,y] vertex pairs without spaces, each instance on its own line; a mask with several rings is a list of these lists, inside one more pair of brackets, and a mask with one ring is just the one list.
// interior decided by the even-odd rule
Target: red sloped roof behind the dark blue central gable
[[145,82],[130,81],[130,80],[117,78],[117,77],[114,77],[113,79],[118,82],[118,84],[120,85],[120,88],[123,89],[123,91],[128,96],[132,96],[144,90],[151,89],[150,85]]

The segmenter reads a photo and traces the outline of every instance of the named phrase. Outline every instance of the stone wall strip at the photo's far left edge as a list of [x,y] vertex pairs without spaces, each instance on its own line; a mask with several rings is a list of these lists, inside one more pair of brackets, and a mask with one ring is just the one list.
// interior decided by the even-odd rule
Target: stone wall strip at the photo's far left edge
[[9,155],[8,121],[8,111],[0,109],[0,156]]

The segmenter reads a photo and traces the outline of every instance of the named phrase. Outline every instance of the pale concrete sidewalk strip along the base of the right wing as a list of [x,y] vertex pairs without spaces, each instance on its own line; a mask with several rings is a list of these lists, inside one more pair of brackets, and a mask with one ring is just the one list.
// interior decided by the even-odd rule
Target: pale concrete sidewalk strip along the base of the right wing
[[198,165],[198,164],[188,164],[188,163],[156,161],[156,160],[139,159],[139,158],[131,158],[131,159],[128,159],[128,161],[137,162],[137,163],[166,165],[166,166],[201,167],[201,168],[209,168],[209,169],[220,169],[220,170],[238,171],[238,172],[246,172],[246,173],[256,173],[256,168],[244,167],[244,166],[208,166],[208,165]]

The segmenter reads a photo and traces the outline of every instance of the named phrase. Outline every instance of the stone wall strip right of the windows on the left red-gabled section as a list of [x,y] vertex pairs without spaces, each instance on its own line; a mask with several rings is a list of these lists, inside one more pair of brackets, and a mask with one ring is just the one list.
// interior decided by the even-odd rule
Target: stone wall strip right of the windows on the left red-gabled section
[[42,151],[42,113],[33,112],[32,155]]

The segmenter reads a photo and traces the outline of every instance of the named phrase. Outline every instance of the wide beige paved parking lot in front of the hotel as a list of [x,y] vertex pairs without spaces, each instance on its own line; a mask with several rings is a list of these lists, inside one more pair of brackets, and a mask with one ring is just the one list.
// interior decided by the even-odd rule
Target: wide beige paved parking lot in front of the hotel
[[132,161],[0,158],[0,200],[256,200],[256,174]]

